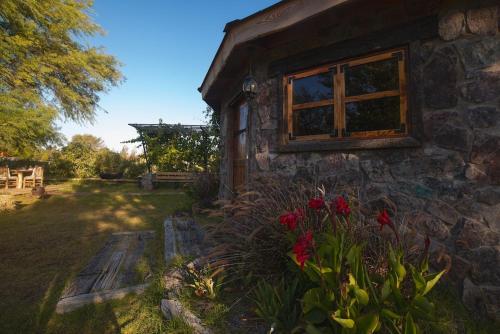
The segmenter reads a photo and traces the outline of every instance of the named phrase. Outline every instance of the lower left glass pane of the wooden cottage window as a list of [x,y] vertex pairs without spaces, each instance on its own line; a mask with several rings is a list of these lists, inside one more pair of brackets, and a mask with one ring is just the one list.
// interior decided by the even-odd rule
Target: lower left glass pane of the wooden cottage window
[[333,106],[299,109],[293,111],[293,135],[310,136],[331,133]]

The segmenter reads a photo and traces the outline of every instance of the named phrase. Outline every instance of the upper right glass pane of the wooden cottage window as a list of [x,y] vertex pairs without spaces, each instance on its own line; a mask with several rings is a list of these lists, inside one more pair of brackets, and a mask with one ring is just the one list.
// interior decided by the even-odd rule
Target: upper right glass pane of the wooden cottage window
[[345,71],[346,96],[398,89],[399,74],[397,58],[353,66]]

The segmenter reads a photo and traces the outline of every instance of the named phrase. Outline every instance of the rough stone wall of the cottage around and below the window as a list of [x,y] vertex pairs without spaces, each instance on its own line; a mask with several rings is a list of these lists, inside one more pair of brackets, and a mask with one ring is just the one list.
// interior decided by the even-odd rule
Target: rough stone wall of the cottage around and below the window
[[[430,235],[436,249],[452,255],[452,278],[462,288],[466,305],[496,319],[500,319],[498,11],[497,6],[450,10],[440,16],[439,37],[419,44],[419,65],[412,71],[419,72],[422,80],[418,91],[410,94],[421,106],[420,147],[280,153],[280,78],[267,77],[268,64],[261,64],[249,149],[250,175],[315,177],[325,184],[357,187],[362,200],[374,209],[382,198],[392,200],[409,226]],[[222,116],[227,131],[228,113]],[[221,166],[222,197],[230,196],[227,153]]]

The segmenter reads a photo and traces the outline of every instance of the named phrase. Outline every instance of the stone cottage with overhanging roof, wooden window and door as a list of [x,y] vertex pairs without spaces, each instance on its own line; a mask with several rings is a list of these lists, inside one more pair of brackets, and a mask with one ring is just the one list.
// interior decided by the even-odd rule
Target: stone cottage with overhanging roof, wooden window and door
[[222,125],[220,196],[274,173],[388,197],[452,255],[465,304],[500,319],[499,13],[289,0],[228,23],[199,89]]

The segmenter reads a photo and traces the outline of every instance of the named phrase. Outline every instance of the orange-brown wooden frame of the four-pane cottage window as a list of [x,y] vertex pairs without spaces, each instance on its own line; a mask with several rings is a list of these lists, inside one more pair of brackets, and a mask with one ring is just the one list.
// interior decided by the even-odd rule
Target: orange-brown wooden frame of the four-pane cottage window
[[[409,135],[408,126],[408,94],[407,94],[407,48],[397,48],[386,50],[383,52],[370,54],[363,57],[348,59],[341,62],[335,62],[327,65],[318,66],[309,70],[295,72],[283,77],[283,110],[285,112],[284,119],[287,126],[285,131],[285,143],[288,142],[307,142],[307,141],[345,141],[349,139],[379,139],[379,138],[398,138]],[[399,90],[380,91],[375,93],[345,96],[345,68],[377,61],[397,58],[398,74],[399,74]],[[314,101],[301,104],[293,104],[293,81],[304,77],[317,75],[321,73],[332,73],[333,82],[333,99]],[[375,130],[375,131],[357,131],[347,133],[345,109],[346,104],[355,101],[373,100],[383,97],[400,96],[400,129]],[[334,109],[334,124],[333,131],[330,134],[296,136],[293,133],[293,111],[331,105]]]

